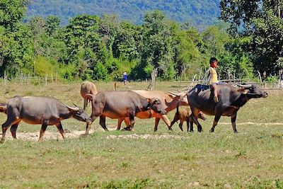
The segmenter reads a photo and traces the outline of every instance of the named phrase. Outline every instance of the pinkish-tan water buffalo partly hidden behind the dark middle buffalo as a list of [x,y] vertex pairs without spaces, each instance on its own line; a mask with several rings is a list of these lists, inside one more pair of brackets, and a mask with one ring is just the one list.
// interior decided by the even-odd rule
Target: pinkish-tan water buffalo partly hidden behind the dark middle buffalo
[[[145,98],[158,98],[163,104],[167,113],[177,107],[177,104],[180,100],[180,96],[183,96],[185,94],[185,93],[178,93],[178,94],[164,93],[163,91],[144,91],[144,90],[137,90],[134,92],[138,93],[140,96],[143,96]],[[189,104],[187,103],[186,98],[182,98],[179,102],[179,105],[189,105]],[[154,110],[139,112],[137,113],[136,117],[140,119],[156,118],[155,125],[154,125],[154,131],[157,131],[159,120],[162,119],[168,126],[168,129],[171,130],[171,122],[167,118],[167,116],[162,115],[160,113],[156,113],[154,112]],[[127,127],[129,127],[129,119],[120,118],[118,120],[117,130],[120,130],[121,123],[123,120],[125,120],[125,124],[127,125]]]

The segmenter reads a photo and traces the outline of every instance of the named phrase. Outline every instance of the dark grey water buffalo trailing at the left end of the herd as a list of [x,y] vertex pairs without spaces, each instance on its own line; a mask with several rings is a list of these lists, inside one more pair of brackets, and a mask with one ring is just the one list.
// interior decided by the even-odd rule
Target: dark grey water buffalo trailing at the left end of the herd
[[[1,109],[1,108],[0,108]],[[90,118],[83,108],[71,107],[61,103],[55,98],[46,96],[15,96],[6,104],[7,120],[2,125],[1,142],[5,140],[6,130],[11,126],[11,134],[16,139],[18,124],[23,120],[29,124],[41,124],[40,137],[47,128],[47,125],[56,125],[64,138],[64,130],[61,120],[75,118],[83,122],[90,122]]]

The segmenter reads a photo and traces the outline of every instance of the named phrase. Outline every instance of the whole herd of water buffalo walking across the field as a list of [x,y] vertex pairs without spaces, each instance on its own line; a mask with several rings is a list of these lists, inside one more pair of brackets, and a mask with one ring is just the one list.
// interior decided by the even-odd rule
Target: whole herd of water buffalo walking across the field
[[[169,130],[172,125],[180,120],[179,127],[183,131],[183,122],[187,121],[187,131],[193,131],[193,123],[197,125],[197,130],[202,131],[202,126],[198,118],[205,115],[214,115],[214,122],[210,132],[214,132],[221,115],[231,117],[233,132],[236,130],[236,116],[239,108],[250,98],[267,97],[267,93],[254,84],[241,85],[239,88],[229,84],[219,84],[217,86],[219,102],[213,100],[213,93],[209,86],[197,84],[187,93],[165,93],[163,91],[101,91],[98,92],[95,84],[84,81],[81,84],[81,96],[84,99],[83,108],[79,106],[71,107],[58,101],[56,98],[46,96],[15,96],[7,103],[0,103],[0,112],[6,113],[7,120],[2,125],[1,143],[4,142],[6,130],[11,127],[11,134],[16,139],[18,124],[23,120],[28,124],[41,124],[40,137],[47,128],[47,125],[56,125],[60,134],[64,138],[64,130],[61,120],[75,118],[86,122],[86,134],[91,129],[91,123],[100,118],[100,125],[104,130],[108,130],[105,118],[117,119],[117,130],[125,121],[127,127],[124,130],[132,130],[134,118],[148,119],[155,118],[154,131],[158,128],[158,122],[162,119]],[[185,98],[186,97],[186,98]],[[91,102],[92,113],[89,117],[86,106]],[[178,106],[186,105],[187,108],[179,112]],[[177,108],[174,120],[170,122],[166,113]],[[189,125],[190,124],[190,125]]]

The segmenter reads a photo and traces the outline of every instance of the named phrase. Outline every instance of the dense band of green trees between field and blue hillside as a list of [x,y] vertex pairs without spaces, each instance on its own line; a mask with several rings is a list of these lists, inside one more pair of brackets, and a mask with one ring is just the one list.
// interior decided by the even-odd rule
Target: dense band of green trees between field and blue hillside
[[67,25],[57,16],[23,21],[28,3],[0,2],[1,76],[110,81],[127,71],[129,79],[139,80],[156,68],[158,79],[192,79],[207,69],[210,57],[219,59],[221,77],[250,78],[258,71],[270,76],[283,68],[282,1],[222,0],[222,22],[201,31],[158,10],[139,25],[112,14],[76,14]]

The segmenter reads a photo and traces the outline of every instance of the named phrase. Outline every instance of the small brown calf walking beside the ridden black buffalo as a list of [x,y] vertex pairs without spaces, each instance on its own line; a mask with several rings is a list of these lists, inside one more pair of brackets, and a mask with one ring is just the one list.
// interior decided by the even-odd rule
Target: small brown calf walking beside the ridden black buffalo
[[[200,112],[197,115],[197,118],[200,118],[202,120],[206,120],[206,118],[204,117],[204,114],[202,112]],[[190,108],[185,108],[183,111],[179,112],[179,106],[177,105],[177,111],[174,115],[174,119],[171,122],[171,127],[174,125],[175,122],[177,122],[178,120],[180,120],[179,123],[179,127],[180,130],[183,131],[183,122],[187,122],[187,132],[189,132],[189,123],[190,123],[190,132],[193,132],[194,129],[192,127],[194,120],[192,118],[192,110],[190,110]]]

